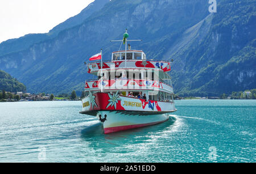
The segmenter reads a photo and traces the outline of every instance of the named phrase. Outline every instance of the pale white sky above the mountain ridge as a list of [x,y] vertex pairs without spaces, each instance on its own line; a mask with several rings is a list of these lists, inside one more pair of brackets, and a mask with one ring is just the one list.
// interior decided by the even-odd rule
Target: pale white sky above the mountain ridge
[[0,43],[28,33],[47,33],[94,0],[0,0]]

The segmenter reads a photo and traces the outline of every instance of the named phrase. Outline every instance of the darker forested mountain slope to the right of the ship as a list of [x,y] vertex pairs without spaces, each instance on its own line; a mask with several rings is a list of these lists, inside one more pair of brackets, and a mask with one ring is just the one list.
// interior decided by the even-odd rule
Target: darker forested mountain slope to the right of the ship
[[176,92],[218,96],[254,88],[256,1],[221,1],[203,23],[193,44],[172,52]]

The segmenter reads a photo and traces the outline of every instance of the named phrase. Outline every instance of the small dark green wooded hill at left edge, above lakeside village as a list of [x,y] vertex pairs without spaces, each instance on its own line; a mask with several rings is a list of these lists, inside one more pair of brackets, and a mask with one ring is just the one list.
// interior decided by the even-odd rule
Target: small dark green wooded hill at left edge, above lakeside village
[[0,70],[0,90],[8,92],[26,92],[26,86],[12,78],[10,74]]

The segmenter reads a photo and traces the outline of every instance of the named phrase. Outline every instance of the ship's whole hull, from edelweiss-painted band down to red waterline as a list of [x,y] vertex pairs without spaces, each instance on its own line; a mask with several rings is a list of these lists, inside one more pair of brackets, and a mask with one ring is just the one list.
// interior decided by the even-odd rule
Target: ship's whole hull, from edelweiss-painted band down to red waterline
[[104,92],[85,97],[82,106],[80,113],[96,116],[103,123],[105,134],[158,124],[167,121],[169,114],[176,111],[174,103],[115,97]]

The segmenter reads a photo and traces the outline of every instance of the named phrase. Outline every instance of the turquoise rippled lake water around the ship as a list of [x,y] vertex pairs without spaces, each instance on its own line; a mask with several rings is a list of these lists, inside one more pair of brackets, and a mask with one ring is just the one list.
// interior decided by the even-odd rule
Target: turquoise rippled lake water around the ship
[[0,162],[256,162],[256,100],[180,100],[162,124],[103,134],[81,101],[0,103]]

